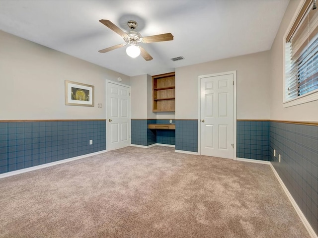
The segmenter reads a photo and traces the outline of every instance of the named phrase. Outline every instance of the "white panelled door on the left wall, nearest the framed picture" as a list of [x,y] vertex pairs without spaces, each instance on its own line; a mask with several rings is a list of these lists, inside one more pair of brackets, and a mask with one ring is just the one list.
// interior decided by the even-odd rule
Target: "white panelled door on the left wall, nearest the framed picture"
[[130,88],[107,82],[107,150],[130,144]]

